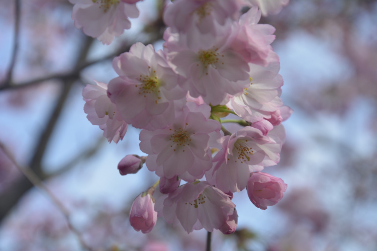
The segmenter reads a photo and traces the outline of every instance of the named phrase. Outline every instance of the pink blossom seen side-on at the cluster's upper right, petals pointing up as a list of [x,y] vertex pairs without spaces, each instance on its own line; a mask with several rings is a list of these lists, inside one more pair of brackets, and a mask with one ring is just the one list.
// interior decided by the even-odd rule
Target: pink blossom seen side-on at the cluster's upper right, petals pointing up
[[251,8],[239,20],[239,30],[233,42],[233,49],[249,63],[266,66],[278,56],[273,52],[271,43],[275,40],[275,28],[267,24],[258,24],[260,11]]

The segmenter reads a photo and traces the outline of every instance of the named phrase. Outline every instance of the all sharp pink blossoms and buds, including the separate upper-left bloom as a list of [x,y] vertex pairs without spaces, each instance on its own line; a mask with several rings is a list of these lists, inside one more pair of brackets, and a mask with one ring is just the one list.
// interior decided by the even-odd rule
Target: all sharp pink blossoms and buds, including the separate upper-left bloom
[[[127,17],[138,16],[138,1],[70,1],[75,25],[105,43],[129,28]],[[275,29],[258,22],[285,4],[174,0],[164,11],[163,50],[135,43],[114,58],[117,77],[83,89],[87,118],[109,142],[123,139],[128,125],[142,129],[147,156],[127,155],[118,165],[127,175],[145,163],[159,177],[132,205],[136,230],[151,231],[159,216],[187,233],[229,234],[238,220],[233,193],[247,189],[263,210],[282,198],[287,185],[260,171],[279,162],[281,122],[292,110],[280,99]],[[250,8],[242,14],[245,5]],[[103,26],[95,28],[93,9]]]

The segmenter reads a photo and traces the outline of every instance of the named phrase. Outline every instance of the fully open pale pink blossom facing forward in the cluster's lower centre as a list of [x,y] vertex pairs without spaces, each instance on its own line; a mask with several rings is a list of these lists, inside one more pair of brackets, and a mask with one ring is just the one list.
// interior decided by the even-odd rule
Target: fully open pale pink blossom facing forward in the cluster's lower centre
[[[197,109],[201,107],[207,113],[208,105]],[[140,149],[149,154],[147,168],[167,179],[174,176],[184,181],[201,179],[212,166],[210,138],[220,138],[220,129],[219,122],[185,107],[183,114],[166,128],[140,132]]]

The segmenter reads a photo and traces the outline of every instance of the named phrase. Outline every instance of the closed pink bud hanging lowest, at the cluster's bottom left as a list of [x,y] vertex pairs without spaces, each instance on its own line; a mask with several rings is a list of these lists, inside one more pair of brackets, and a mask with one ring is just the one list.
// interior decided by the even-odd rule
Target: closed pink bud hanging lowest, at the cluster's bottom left
[[144,194],[140,194],[132,203],[130,224],[136,231],[149,233],[156,224],[157,212],[154,211],[154,201],[151,195]]

